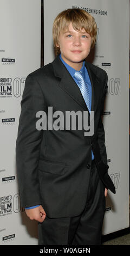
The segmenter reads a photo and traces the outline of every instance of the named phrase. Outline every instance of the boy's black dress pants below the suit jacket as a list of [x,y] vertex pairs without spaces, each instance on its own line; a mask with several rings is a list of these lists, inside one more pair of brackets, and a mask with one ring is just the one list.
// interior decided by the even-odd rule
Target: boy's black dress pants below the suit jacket
[[[82,189],[82,188],[81,188]],[[79,216],[48,218],[38,223],[38,245],[101,245],[105,214],[105,185],[95,161],[90,169],[85,209]]]

